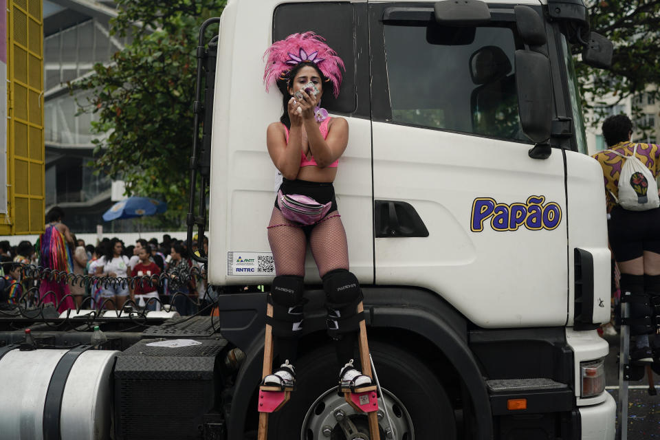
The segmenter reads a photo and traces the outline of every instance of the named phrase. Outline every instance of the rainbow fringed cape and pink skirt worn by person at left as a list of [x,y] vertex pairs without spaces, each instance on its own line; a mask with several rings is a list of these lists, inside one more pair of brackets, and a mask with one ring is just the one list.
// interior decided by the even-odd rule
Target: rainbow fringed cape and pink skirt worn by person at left
[[[45,231],[37,241],[39,250],[39,265],[51,270],[73,273],[74,261],[64,235],[56,225],[47,225]],[[42,303],[54,303],[59,312],[75,309],[74,300],[69,295],[69,286],[66,281],[49,281],[44,279],[39,287],[39,296]],[[64,298],[67,296],[66,298]],[[63,300],[64,298],[64,300]]]

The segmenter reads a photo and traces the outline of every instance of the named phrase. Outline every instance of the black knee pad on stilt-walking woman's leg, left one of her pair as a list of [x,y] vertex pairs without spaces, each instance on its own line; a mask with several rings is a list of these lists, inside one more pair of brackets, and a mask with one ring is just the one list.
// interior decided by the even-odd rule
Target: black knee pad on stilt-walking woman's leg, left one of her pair
[[267,322],[275,336],[298,338],[303,330],[304,287],[302,276],[281,275],[274,278],[269,297],[273,317]]

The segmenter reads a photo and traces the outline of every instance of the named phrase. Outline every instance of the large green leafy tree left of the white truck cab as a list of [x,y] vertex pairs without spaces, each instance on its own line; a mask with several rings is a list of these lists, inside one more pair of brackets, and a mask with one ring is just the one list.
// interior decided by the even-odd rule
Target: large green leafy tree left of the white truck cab
[[96,170],[123,179],[128,195],[167,201],[168,212],[146,223],[180,227],[188,210],[199,25],[218,17],[226,1],[116,3],[111,34],[129,35],[131,43],[70,87],[91,90],[78,104],[98,114],[92,130],[103,136],[95,141]]

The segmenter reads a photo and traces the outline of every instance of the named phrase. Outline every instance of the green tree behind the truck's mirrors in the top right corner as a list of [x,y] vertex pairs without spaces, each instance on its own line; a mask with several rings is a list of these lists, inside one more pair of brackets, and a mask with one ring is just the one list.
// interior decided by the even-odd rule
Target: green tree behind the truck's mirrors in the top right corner
[[[643,94],[647,85],[660,85],[660,0],[590,0],[587,4],[591,30],[614,43],[613,62],[609,69],[575,64],[582,96],[595,97],[595,118],[590,121],[595,125],[604,119],[602,110],[606,102],[600,98],[615,96],[617,102],[614,104],[617,104],[628,96]],[[581,51],[577,45],[574,48]],[[650,97],[660,102],[657,87],[650,92]],[[632,102],[632,118],[639,121],[641,103]],[[593,104],[584,102],[585,108],[594,107]],[[651,126],[640,124],[638,128],[644,135],[654,137],[656,134]]]

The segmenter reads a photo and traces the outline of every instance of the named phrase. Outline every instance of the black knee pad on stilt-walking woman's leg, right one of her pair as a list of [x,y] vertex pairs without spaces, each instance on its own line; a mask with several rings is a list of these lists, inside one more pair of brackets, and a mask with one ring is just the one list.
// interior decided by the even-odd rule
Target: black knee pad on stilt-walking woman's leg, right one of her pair
[[346,269],[336,269],[325,274],[322,280],[327,296],[328,334],[340,339],[344,333],[357,331],[364,319],[363,314],[358,314],[358,304],[362,301],[358,278]]

